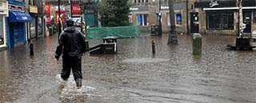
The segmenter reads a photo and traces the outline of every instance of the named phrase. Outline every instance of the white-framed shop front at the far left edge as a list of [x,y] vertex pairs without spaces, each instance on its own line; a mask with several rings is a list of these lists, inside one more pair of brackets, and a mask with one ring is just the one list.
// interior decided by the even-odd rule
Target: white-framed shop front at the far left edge
[[0,0],[0,48],[6,47],[6,16],[8,3]]

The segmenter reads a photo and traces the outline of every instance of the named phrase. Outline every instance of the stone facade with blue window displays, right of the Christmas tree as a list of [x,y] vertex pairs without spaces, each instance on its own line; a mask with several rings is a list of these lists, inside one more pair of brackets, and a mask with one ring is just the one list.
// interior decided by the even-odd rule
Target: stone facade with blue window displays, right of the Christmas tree
[[[186,0],[174,1],[175,25],[178,32],[187,32]],[[168,0],[130,0],[130,22],[142,27],[142,30],[150,30],[150,26],[157,25],[158,13],[162,15],[162,31],[170,30],[170,14]]]

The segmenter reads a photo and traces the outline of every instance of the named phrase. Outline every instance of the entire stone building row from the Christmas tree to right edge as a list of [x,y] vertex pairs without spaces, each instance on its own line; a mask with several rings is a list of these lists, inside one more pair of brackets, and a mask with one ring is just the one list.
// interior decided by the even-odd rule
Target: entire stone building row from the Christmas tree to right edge
[[[130,0],[130,22],[150,30],[162,13],[162,30],[170,30],[168,0]],[[256,30],[256,1],[243,0],[244,32]],[[236,0],[175,0],[174,14],[178,32],[200,34],[236,34],[238,7]],[[160,6],[160,7],[159,7]],[[161,8],[161,9],[160,9]]]

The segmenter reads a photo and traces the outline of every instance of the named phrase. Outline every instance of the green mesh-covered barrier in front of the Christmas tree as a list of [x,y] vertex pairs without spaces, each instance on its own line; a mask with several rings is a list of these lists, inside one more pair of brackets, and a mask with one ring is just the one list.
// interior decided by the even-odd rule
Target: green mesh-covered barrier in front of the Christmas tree
[[141,35],[141,26],[91,27],[86,32],[86,38],[134,38]]

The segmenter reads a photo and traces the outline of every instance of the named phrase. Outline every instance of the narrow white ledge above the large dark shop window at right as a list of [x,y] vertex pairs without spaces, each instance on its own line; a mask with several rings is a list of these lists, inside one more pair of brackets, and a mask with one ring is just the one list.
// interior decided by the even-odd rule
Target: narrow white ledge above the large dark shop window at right
[[[202,10],[238,10],[238,7],[203,8]],[[242,7],[242,10],[255,10],[256,6]]]

